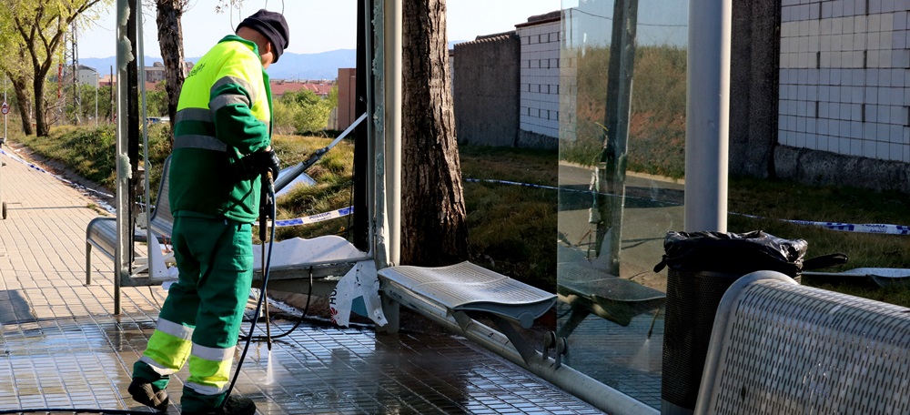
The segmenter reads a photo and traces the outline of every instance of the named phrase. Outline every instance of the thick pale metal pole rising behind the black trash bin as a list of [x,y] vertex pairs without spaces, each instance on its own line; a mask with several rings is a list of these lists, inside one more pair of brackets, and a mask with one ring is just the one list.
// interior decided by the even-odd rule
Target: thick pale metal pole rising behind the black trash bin
[[727,230],[731,10],[732,0],[689,2],[687,231]]

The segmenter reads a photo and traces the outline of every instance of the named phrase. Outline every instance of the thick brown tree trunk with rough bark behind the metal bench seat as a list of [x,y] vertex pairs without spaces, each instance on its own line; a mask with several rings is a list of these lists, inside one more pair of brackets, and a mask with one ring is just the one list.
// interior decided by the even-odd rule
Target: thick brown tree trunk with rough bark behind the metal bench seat
[[401,263],[468,257],[445,0],[403,2]]

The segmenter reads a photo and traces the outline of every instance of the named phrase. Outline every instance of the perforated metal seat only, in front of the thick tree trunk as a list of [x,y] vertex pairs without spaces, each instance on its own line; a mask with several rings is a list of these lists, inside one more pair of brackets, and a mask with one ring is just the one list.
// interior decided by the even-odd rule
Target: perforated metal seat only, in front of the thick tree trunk
[[470,262],[440,268],[389,267],[380,269],[379,277],[384,292],[405,290],[448,313],[482,311],[524,328],[556,302],[554,294]]

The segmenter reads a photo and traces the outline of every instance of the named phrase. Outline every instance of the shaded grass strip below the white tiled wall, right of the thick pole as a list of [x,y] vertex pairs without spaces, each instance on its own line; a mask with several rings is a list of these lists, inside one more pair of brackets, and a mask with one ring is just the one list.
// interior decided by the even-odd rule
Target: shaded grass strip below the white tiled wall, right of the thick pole
[[[910,196],[851,187],[809,187],[781,180],[734,177],[730,181],[730,212],[763,218],[781,218],[854,224],[910,224]],[[806,258],[843,253],[843,266],[823,269],[840,272],[853,268],[910,268],[910,236],[881,235],[796,225],[777,219],[728,217],[727,229],[744,232],[762,229],[780,238],[802,238]],[[804,284],[910,307],[908,288],[872,288],[856,284],[830,284],[824,278],[805,278]]]

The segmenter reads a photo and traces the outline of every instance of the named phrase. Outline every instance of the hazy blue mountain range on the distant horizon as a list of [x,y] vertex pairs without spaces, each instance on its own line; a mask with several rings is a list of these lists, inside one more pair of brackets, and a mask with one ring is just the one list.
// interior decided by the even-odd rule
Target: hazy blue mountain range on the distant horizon
[[[188,57],[190,62],[196,62],[200,56]],[[339,68],[354,67],[357,61],[355,49],[339,49],[319,54],[292,54],[285,53],[278,59],[278,63],[269,66],[266,72],[272,79],[304,80],[304,79],[335,79],[339,76]],[[146,66],[161,62],[160,57],[146,56]],[[84,57],[79,59],[79,64],[94,67],[100,76],[110,74],[111,67],[116,63],[116,57]]]

